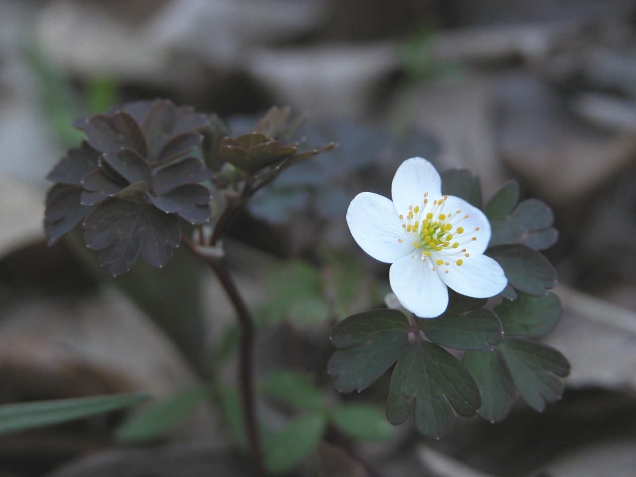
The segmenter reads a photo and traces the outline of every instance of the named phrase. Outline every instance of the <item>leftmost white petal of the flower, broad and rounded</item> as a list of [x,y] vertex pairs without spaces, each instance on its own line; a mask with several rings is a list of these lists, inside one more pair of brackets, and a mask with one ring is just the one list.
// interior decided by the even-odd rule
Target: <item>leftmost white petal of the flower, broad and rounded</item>
[[404,240],[406,235],[393,203],[381,195],[372,192],[356,195],[347,209],[347,224],[357,244],[385,263],[392,263],[415,249]]

